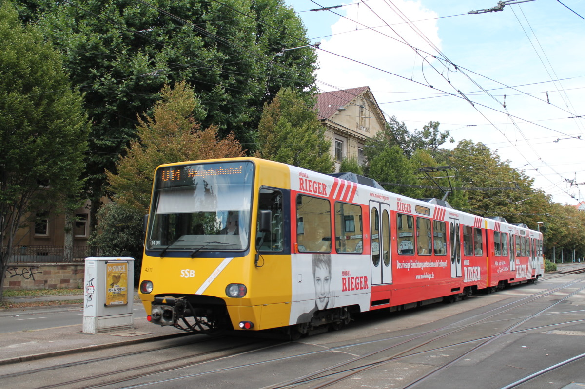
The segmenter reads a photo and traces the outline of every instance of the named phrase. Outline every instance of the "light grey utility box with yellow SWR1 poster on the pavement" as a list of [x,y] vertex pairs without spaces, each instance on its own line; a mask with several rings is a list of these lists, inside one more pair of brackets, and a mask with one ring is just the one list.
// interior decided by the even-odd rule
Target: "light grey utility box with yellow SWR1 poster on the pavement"
[[134,325],[134,258],[85,258],[83,332],[129,329]]

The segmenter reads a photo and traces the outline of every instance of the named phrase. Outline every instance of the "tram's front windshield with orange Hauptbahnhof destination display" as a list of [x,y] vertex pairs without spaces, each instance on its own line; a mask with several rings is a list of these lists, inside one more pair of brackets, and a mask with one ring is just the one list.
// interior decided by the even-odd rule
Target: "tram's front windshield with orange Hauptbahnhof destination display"
[[146,248],[239,251],[248,247],[254,165],[176,165],[156,172]]

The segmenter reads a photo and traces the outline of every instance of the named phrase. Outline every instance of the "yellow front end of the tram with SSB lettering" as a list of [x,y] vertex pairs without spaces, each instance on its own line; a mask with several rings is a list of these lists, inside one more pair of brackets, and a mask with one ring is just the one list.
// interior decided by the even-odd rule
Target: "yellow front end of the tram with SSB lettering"
[[288,325],[289,176],[256,158],[157,168],[139,291],[151,322],[187,331]]

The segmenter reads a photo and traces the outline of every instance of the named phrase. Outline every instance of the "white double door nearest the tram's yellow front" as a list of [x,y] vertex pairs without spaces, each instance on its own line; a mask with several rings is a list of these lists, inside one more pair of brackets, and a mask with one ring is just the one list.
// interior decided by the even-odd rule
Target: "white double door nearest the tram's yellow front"
[[390,206],[370,202],[371,284],[392,282]]

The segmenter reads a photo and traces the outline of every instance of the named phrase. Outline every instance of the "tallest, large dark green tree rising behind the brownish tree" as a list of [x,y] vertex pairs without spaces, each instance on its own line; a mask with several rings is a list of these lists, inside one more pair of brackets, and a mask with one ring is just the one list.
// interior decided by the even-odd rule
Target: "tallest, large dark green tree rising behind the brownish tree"
[[11,1],[61,50],[85,91],[94,123],[85,174],[92,211],[108,193],[105,171],[115,170],[136,139],[137,114],[153,106],[164,84],[194,85],[208,112],[202,126],[218,126],[221,137],[233,132],[248,148],[274,91],[314,89],[314,48],[287,51],[269,66],[282,48],[307,42],[283,0]]

